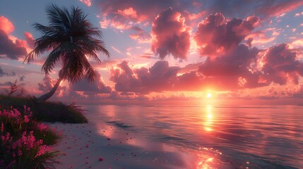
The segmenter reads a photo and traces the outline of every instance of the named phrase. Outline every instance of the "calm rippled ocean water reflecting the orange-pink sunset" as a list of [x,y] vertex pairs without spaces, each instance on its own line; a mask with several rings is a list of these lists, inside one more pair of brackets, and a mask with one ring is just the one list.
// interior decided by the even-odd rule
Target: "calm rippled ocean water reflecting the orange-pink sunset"
[[[95,123],[185,151],[200,151],[199,158],[213,154],[220,165],[211,168],[303,168],[303,106],[84,108]],[[205,161],[209,159],[213,160]]]

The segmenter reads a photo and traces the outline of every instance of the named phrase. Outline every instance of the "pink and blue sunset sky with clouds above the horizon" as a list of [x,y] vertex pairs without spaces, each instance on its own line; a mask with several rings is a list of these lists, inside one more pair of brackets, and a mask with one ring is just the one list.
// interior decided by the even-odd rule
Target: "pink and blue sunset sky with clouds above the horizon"
[[111,54],[91,62],[97,81],[66,80],[52,99],[303,104],[301,0],[1,1],[2,92],[18,80],[40,96],[57,82],[60,63],[41,72],[47,53],[23,64],[51,3],[82,8]]

